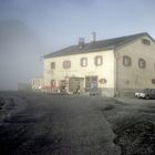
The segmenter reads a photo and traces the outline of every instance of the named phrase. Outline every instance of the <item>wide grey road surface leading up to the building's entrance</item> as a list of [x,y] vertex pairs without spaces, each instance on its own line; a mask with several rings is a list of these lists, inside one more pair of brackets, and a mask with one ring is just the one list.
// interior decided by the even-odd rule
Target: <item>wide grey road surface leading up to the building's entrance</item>
[[120,154],[110,124],[94,106],[96,99],[43,95],[21,95],[21,99],[29,103],[27,108],[1,123],[0,152],[11,155]]

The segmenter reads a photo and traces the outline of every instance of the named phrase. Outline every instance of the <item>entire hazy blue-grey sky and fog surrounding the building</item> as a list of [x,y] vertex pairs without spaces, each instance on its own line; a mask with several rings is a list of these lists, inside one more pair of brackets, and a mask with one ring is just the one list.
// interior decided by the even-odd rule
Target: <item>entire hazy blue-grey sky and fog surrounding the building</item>
[[41,76],[42,55],[90,41],[148,32],[154,0],[0,0],[0,90]]

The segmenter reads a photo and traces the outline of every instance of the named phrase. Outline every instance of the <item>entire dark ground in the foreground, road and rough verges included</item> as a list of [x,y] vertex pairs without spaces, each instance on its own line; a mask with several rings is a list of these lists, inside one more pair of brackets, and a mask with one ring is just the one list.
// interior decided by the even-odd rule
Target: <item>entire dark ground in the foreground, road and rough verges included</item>
[[1,155],[154,155],[155,101],[0,93]]

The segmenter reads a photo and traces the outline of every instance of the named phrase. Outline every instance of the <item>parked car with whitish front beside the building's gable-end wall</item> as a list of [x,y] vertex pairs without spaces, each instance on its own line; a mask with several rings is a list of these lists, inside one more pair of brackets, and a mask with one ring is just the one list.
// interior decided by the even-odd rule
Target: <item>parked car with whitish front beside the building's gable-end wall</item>
[[140,99],[155,99],[155,89],[144,89],[136,92],[135,96]]

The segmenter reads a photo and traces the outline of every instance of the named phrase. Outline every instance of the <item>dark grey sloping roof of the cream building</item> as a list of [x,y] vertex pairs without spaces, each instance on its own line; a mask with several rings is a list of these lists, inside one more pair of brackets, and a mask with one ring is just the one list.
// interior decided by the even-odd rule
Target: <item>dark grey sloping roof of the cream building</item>
[[113,48],[123,45],[124,43],[131,42],[143,35],[149,37],[148,33],[144,32],[144,33],[137,33],[137,34],[133,34],[133,35],[126,35],[126,37],[120,37],[120,38],[114,38],[114,39],[107,39],[107,40],[101,40],[101,41],[85,43],[82,49],[80,49],[79,44],[71,45],[69,48],[59,50],[56,52],[46,54],[46,55],[44,55],[44,59],[63,56],[63,55],[73,55],[73,54],[79,54],[79,53],[89,53],[89,52],[94,52],[95,50],[96,51],[97,50],[108,50],[108,49],[113,49]]

